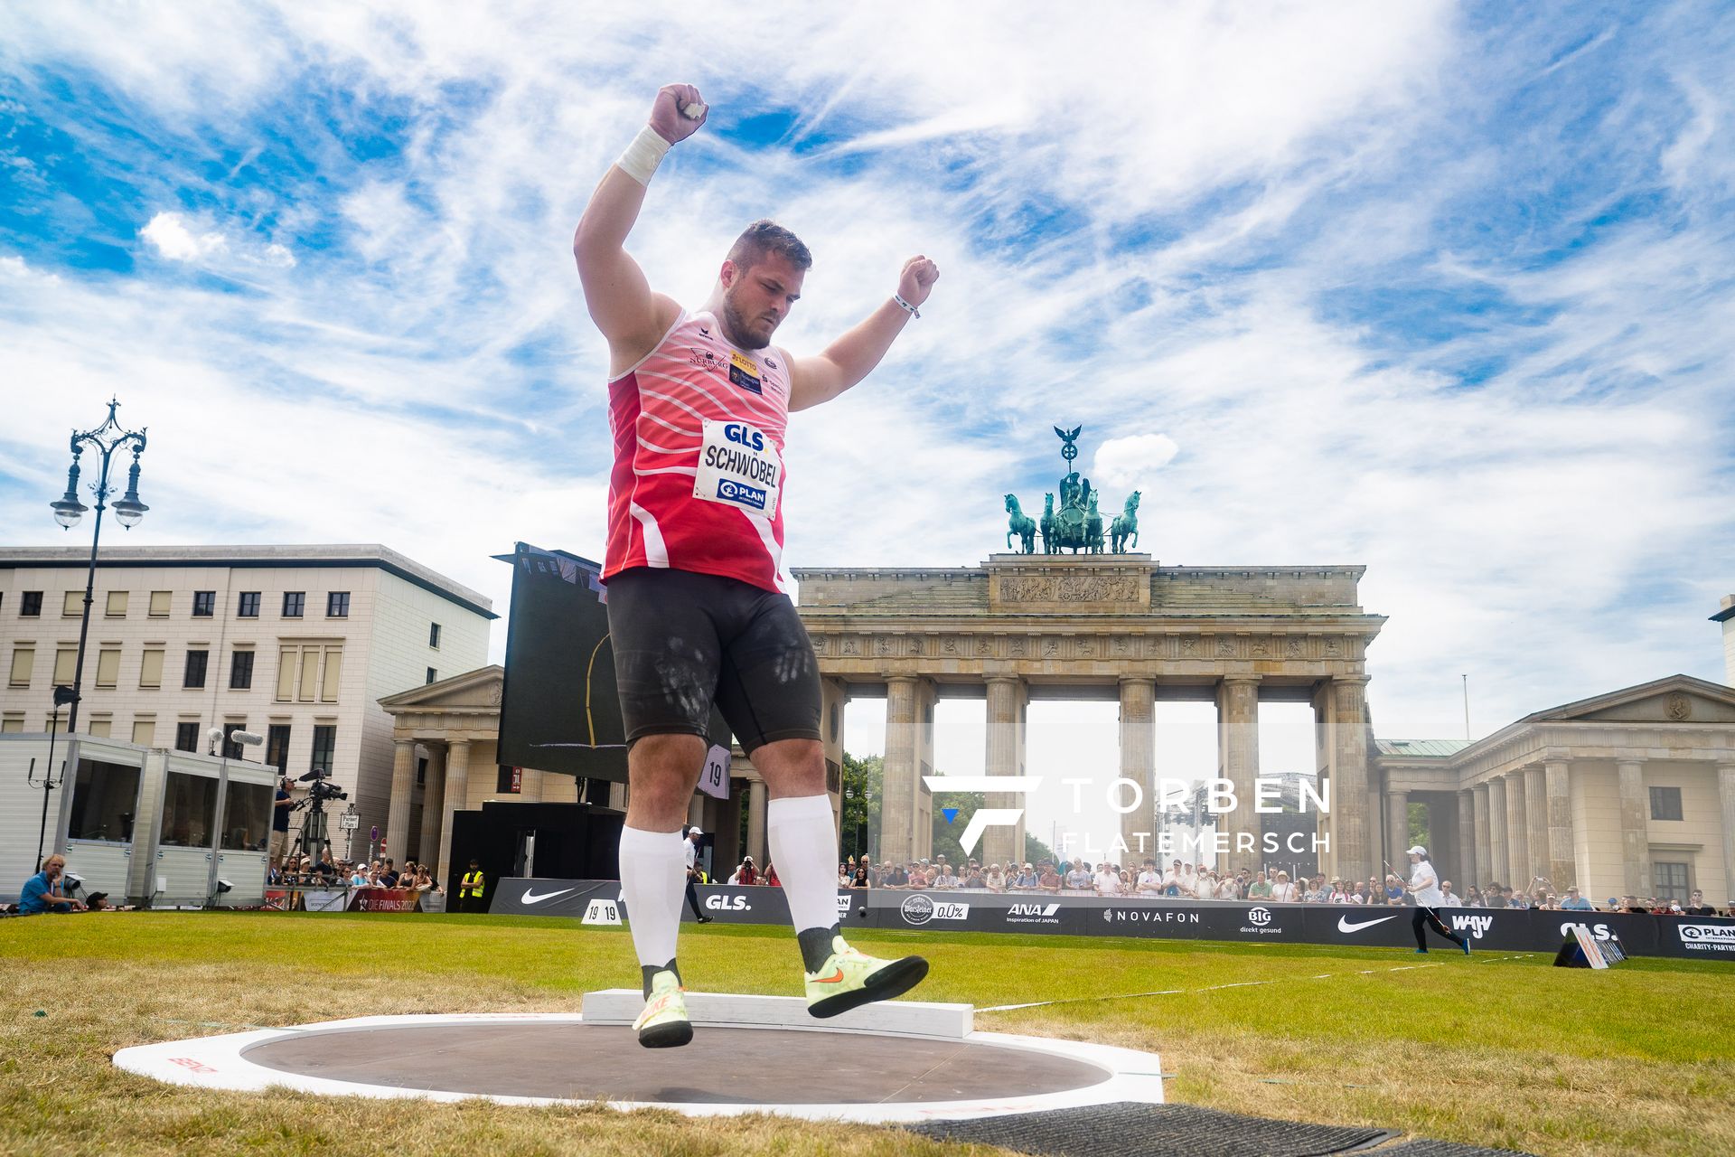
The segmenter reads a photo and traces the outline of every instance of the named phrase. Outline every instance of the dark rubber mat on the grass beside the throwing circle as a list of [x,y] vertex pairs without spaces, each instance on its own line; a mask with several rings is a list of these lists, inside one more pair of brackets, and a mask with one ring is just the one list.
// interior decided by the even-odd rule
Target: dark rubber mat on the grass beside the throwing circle
[[1386,1129],[1136,1101],[906,1128],[942,1141],[999,1145],[1039,1157],[1324,1157],[1393,1136]]

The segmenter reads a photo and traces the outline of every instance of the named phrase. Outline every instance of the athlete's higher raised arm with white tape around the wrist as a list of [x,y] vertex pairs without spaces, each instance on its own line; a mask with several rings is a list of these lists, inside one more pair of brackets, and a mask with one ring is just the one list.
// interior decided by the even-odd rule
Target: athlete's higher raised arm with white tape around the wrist
[[[697,109],[687,116],[684,109]],[[585,305],[609,340],[611,373],[618,373],[656,347],[675,324],[680,305],[651,291],[638,262],[626,255],[626,234],[638,220],[645,186],[663,154],[704,123],[704,102],[692,85],[663,85],[651,106],[651,121],[602,175],[573,234],[573,257],[585,283]]]

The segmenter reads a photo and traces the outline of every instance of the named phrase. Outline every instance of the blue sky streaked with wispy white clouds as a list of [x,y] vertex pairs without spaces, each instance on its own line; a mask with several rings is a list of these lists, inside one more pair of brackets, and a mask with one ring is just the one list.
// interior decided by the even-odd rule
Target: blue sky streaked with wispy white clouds
[[66,430],[118,394],[130,541],[383,541],[501,607],[514,539],[600,553],[569,238],[687,80],[710,123],[630,241],[658,288],[703,300],[774,215],[817,255],[802,350],[942,267],[793,423],[793,565],[973,564],[1083,425],[1162,562],[1369,567],[1385,735],[1461,734],[1464,671],[1478,732],[1721,678],[1718,9],[692,7],[0,10],[3,539],[64,541]]

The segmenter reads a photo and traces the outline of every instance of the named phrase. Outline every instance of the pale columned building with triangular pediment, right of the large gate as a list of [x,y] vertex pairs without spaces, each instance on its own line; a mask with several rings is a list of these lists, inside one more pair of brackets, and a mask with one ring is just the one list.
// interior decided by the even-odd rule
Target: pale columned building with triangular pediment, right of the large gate
[[1379,741],[1385,859],[1412,803],[1435,862],[1471,883],[1586,897],[1735,890],[1735,689],[1688,675],[1537,711],[1475,742]]

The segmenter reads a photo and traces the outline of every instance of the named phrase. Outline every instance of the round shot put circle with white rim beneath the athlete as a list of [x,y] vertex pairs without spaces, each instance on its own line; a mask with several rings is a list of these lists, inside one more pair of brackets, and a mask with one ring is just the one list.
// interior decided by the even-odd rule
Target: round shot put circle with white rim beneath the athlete
[[[607,1101],[692,1115],[776,1112],[871,1124],[1162,1100],[1150,1053],[996,1032],[963,1039],[701,1025],[640,1048],[576,1015],[366,1016],[121,1049],[128,1072],[222,1089]],[[743,1079],[741,1074],[770,1074]]]

